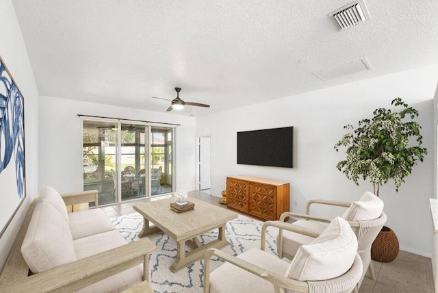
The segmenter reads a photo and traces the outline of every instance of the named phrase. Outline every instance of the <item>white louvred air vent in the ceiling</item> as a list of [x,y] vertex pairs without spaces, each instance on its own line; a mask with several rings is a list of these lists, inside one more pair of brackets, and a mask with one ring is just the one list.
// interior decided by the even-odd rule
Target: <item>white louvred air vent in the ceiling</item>
[[367,5],[364,0],[355,1],[343,8],[331,12],[329,16],[335,19],[339,30],[355,27],[359,23],[363,23],[365,20],[370,19],[370,13],[368,12]]

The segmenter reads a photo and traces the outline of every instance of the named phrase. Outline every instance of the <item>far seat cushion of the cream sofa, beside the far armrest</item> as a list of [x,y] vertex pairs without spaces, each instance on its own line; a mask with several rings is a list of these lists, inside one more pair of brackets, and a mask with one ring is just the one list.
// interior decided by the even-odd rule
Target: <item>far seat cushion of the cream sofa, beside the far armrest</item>
[[68,225],[70,225],[73,240],[116,230],[110,218],[105,216],[101,209],[68,213]]

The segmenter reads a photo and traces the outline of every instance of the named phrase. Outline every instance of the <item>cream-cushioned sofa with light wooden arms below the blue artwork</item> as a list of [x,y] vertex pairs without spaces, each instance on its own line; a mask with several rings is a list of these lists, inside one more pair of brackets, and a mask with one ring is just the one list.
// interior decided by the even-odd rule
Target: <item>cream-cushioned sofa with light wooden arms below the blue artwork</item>
[[[121,292],[149,279],[148,257],[155,249],[150,240],[125,245],[125,238],[101,209],[67,213],[66,201],[50,187],[42,189],[34,205],[21,245],[23,259],[34,274],[27,279],[41,275],[47,281],[58,276],[51,290],[66,292]],[[69,266],[73,275],[68,274]],[[50,288],[50,280],[46,281]],[[44,292],[51,291],[47,288]]]

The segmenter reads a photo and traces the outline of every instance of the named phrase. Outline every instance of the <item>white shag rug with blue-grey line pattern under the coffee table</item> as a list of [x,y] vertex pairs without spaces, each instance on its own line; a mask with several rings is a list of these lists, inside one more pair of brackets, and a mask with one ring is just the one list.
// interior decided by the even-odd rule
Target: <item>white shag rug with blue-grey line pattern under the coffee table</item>
[[[127,214],[111,219],[120,233],[128,242],[136,241],[138,233],[143,228],[143,217],[138,213]],[[239,215],[235,220],[227,223],[226,235],[230,246],[224,247],[231,255],[239,255],[253,247],[260,248],[261,225],[263,222],[246,216]],[[268,227],[266,235],[266,251],[276,255],[275,239],[278,229]],[[217,238],[218,229],[201,235],[198,239],[201,243],[208,243]],[[149,268],[151,270],[151,287],[156,293],[185,293],[203,292],[204,259],[200,259],[187,268],[183,268],[175,274],[170,271],[170,266],[177,256],[177,243],[163,232],[147,236],[157,246],[157,249],[149,256]],[[186,247],[186,251],[190,248]],[[222,260],[212,258],[211,270],[223,264]]]

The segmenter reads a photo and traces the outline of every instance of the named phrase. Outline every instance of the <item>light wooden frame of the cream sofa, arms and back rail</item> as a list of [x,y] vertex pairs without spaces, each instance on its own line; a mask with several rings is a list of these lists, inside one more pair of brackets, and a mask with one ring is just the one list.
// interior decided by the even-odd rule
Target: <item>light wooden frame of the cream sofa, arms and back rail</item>
[[[97,206],[97,190],[62,194],[62,198],[66,205],[95,201]],[[149,281],[149,253],[156,246],[148,238],[28,276],[21,245],[37,203],[38,199],[31,203],[1,271],[0,292],[74,292],[138,264],[143,264],[143,280]]]

